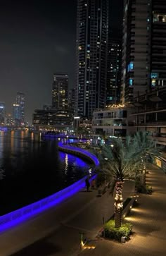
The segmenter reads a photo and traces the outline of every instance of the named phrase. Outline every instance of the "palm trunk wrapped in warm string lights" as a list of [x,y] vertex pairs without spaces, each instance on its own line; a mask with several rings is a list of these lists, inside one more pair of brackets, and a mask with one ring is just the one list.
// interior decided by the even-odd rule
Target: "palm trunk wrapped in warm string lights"
[[117,181],[115,185],[115,228],[120,228],[122,225],[122,186],[123,181]]

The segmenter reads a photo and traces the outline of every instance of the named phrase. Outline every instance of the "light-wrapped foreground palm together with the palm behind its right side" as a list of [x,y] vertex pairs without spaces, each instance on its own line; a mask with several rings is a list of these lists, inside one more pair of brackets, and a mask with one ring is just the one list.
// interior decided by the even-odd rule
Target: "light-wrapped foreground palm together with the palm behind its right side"
[[123,198],[122,188],[125,180],[136,180],[143,176],[146,183],[146,160],[151,154],[159,154],[155,141],[148,138],[146,132],[137,132],[127,136],[125,140],[113,139],[112,147],[106,145],[101,152],[95,153],[100,161],[99,172],[111,182],[111,190],[115,188],[115,228],[122,225]]

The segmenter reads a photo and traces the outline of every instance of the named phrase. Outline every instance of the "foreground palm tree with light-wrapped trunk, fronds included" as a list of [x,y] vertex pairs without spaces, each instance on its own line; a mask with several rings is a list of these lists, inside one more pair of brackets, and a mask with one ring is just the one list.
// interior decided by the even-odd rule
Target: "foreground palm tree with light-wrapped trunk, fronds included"
[[113,139],[111,146],[104,146],[98,158],[103,173],[112,181],[111,192],[115,188],[115,228],[119,228],[122,225],[123,183],[127,179],[134,179],[141,158],[130,136],[127,136],[125,142]]

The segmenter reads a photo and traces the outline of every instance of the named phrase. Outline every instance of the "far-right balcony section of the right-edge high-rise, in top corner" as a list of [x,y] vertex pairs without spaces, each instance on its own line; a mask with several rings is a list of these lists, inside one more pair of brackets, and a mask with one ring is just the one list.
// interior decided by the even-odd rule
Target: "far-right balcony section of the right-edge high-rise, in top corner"
[[150,32],[151,65],[150,87],[166,85],[166,1],[150,1],[151,13],[148,17]]

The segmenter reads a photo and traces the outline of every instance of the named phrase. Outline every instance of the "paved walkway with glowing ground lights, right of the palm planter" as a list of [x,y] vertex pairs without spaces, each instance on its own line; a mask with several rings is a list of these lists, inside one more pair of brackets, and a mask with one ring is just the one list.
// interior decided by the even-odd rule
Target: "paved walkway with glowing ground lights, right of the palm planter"
[[134,234],[127,243],[101,239],[89,243],[96,248],[85,249],[80,256],[166,255],[166,175],[158,167],[149,165],[146,183],[152,185],[152,195],[139,195],[138,205],[126,221],[134,225]]

